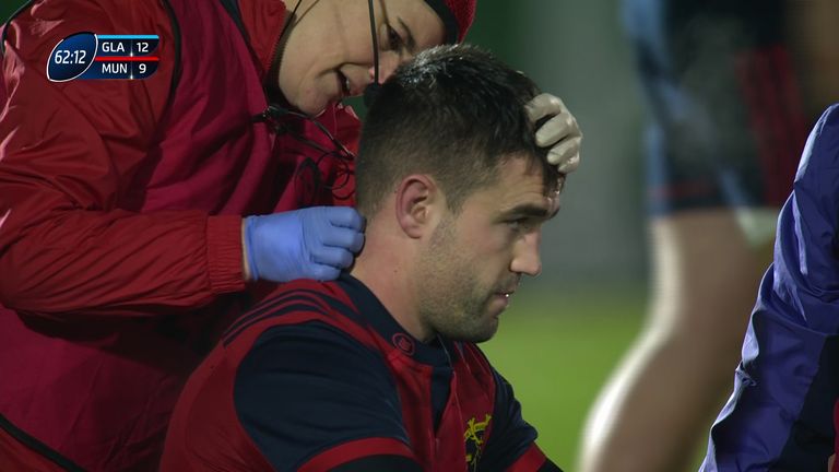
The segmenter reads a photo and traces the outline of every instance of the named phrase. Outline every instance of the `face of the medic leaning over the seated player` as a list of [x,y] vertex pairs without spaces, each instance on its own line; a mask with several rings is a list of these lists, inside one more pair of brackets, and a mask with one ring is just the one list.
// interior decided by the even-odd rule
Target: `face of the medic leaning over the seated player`
[[[365,0],[316,0],[305,7],[289,32],[279,85],[288,103],[317,115],[330,103],[361,95],[374,81],[373,38]],[[442,44],[442,21],[425,1],[376,0],[374,8],[380,81],[416,52]]]

